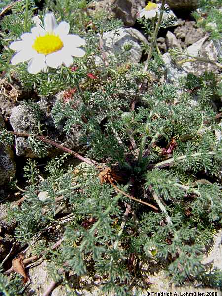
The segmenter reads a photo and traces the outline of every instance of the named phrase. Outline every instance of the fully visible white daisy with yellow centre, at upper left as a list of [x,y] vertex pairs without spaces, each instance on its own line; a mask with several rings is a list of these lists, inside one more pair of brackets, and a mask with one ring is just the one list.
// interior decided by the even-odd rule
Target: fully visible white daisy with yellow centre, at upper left
[[84,50],[78,48],[85,45],[85,40],[78,35],[68,34],[70,26],[67,22],[59,25],[53,13],[47,13],[41,27],[39,17],[34,17],[36,27],[31,33],[21,35],[21,40],[14,41],[10,48],[16,50],[11,63],[16,65],[29,61],[29,73],[36,74],[45,71],[47,67],[58,68],[62,64],[69,67],[73,64],[73,57],[83,57]]

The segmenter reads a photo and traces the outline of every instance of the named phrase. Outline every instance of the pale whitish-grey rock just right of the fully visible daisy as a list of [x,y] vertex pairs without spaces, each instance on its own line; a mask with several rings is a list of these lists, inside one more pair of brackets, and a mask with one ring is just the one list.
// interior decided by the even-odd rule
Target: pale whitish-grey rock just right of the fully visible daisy
[[[114,53],[121,53],[125,46],[129,47],[129,61],[138,63],[142,56],[142,48],[140,43],[148,43],[147,39],[140,31],[134,28],[119,28],[117,34],[115,31],[109,31],[103,34],[103,47],[107,56]],[[101,61],[96,61],[100,64]]]

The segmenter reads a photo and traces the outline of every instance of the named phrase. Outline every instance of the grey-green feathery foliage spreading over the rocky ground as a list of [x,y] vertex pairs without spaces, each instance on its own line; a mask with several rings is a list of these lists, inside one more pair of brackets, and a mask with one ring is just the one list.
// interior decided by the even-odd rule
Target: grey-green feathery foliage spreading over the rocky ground
[[[67,100],[54,97],[50,114],[65,135],[78,130],[78,152],[96,161],[74,167],[62,151],[45,157],[43,166],[39,159],[28,159],[25,200],[9,208],[9,219],[17,223],[16,240],[50,261],[50,275],[67,291],[75,276],[82,288],[97,280],[105,295],[139,294],[148,289],[148,276],[161,270],[175,285],[220,289],[221,271],[202,263],[222,223],[220,79],[206,72],[188,74],[179,87],[160,82],[161,55],[154,51],[144,71],[142,63],[129,63],[129,44],[98,68],[98,33],[122,23],[102,10],[89,11],[88,2],[47,0],[39,13],[53,11],[58,21],[70,23],[71,33],[85,38],[86,55],[74,58],[74,69],[61,66],[33,75],[24,63],[12,66],[8,45],[23,33],[25,1],[16,2],[1,20],[0,71],[39,98],[76,88]],[[35,5],[29,1],[29,29]],[[149,20],[141,22],[153,33]],[[149,48],[144,49],[146,55]],[[88,73],[97,79],[90,80]],[[146,92],[141,90],[144,81]],[[37,137],[47,135],[42,110],[32,100],[21,105],[37,123],[27,141],[42,158],[48,149]],[[1,131],[0,142],[10,141],[11,134]],[[61,268],[64,272],[57,273]],[[20,295],[16,281],[0,275],[5,295]],[[67,295],[79,288],[72,285]]]

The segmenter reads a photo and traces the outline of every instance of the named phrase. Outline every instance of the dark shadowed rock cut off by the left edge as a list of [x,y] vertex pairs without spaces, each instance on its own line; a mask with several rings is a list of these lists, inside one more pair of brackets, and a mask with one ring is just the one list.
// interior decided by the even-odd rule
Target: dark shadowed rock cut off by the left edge
[[[0,130],[5,127],[4,119],[0,114]],[[0,185],[5,184],[15,176],[15,162],[13,151],[8,145],[0,143]]]

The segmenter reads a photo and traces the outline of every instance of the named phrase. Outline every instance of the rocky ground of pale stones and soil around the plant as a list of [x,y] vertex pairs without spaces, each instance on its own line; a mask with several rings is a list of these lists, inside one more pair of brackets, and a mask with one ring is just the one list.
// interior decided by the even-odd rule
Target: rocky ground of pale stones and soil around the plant
[[[190,12],[197,8],[197,1],[168,0],[167,2],[170,5],[172,14],[174,13],[178,17],[178,21],[175,26],[162,30],[157,38],[159,50],[164,53],[163,60],[165,62],[166,81],[175,83],[179,77],[187,73],[202,74],[206,70],[218,72],[219,69],[216,65],[205,63],[204,61],[198,62],[198,65],[195,62],[185,62],[181,68],[175,66],[174,61],[168,53],[169,49],[185,50],[193,57],[197,57],[199,52],[201,52],[203,56],[213,60],[218,56],[222,58],[222,49],[221,44],[210,40],[208,32],[204,32],[202,29],[198,28],[192,18]],[[101,7],[108,9],[111,14],[122,19],[125,24],[125,27],[119,29],[119,35],[114,35],[112,32],[104,34],[104,50],[107,55],[111,55],[113,51],[118,51],[122,45],[127,43],[131,45],[129,62],[138,63],[143,59],[141,42],[147,43],[150,40],[144,36],[143,30],[136,22],[136,14],[144,6],[144,0],[99,0],[92,3],[92,9],[99,9]],[[183,14],[185,17],[183,17]],[[98,67],[100,67],[101,57],[98,57],[97,62]],[[6,126],[9,130],[15,132],[35,133],[38,123],[35,118],[30,116],[29,110],[21,104],[21,101],[27,95],[34,98],[36,96],[35,93],[24,93],[19,84],[16,83],[16,77],[14,77],[12,83],[9,83],[6,79],[0,79],[0,129]],[[47,101],[44,101],[43,99],[41,102],[36,102],[35,104],[37,104],[43,112],[44,123],[47,126],[50,138],[62,143],[62,145],[70,149],[74,148],[76,151],[81,145],[78,139],[77,127],[68,138],[63,134],[62,126],[60,128],[55,128],[50,114],[50,107],[61,95],[63,94],[59,93],[55,97],[53,96],[51,100],[47,99]],[[55,150],[50,148],[47,156],[50,157],[54,154]],[[16,138],[14,148],[0,144],[0,262],[5,259],[11,248],[13,254],[15,244],[13,238],[13,227],[15,227],[15,223],[9,224],[7,218],[5,218],[7,215],[5,201],[11,200],[13,203],[21,197],[19,193],[17,193],[17,196],[11,193],[10,188],[8,188],[8,181],[14,176],[19,177],[20,173],[18,170],[21,168],[24,159],[28,157],[35,158],[36,155],[30,150],[22,137]],[[212,262],[214,266],[222,269],[221,231],[215,235],[214,248],[209,256],[204,259],[204,263],[209,262]],[[43,291],[50,285],[51,279],[46,272],[46,265],[47,262],[43,261],[37,266],[29,268],[29,276],[31,279],[29,295],[43,295]],[[10,268],[10,262],[5,262],[5,266]],[[219,291],[212,289],[198,289],[192,287],[178,289],[172,287],[167,282],[167,279],[164,278],[164,274],[154,275],[153,278],[150,278],[150,282],[153,283],[153,292],[214,291],[218,292],[218,295],[220,294]],[[90,285],[86,285],[86,288],[87,289],[84,290],[84,295],[99,295],[99,292],[95,289],[90,292]],[[82,290],[81,293],[83,293]],[[61,287],[57,287],[51,295],[61,296],[64,295],[64,292]]]

